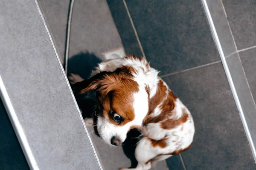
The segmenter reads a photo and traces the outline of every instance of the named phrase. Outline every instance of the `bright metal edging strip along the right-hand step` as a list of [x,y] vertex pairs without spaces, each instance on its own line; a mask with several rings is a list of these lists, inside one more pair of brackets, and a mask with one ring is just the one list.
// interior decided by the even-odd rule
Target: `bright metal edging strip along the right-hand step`
[[236,102],[236,106],[239,110],[239,114],[240,114],[240,118],[241,118],[241,122],[244,126],[244,130],[245,130],[245,133],[247,135],[247,139],[249,141],[249,144],[250,144],[250,147],[251,147],[251,150],[252,150],[252,153],[253,153],[253,158],[254,160],[256,160],[256,150],[255,150],[255,145],[253,143],[253,139],[252,139],[252,136],[251,136],[251,133],[250,133],[250,130],[248,128],[248,125],[247,125],[247,121],[245,119],[245,116],[244,116],[244,111],[242,109],[242,106],[241,106],[241,102],[240,102],[240,99],[238,97],[238,94],[237,94],[237,91],[236,91],[236,88],[235,88],[235,85],[234,85],[234,82],[233,82],[233,79],[232,79],[232,76],[230,74],[230,70],[228,68],[228,65],[227,65],[227,61],[226,61],[226,58],[224,56],[224,52],[222,50],[222,46],[221,46],[221,42],[218,38],[218,34],[217,34],[217,31],[216,31],[216,28],[215,28],[215,25],[212,21],[212,16],[211,16],[211,13],[209,11],[209,8],[208,8],[208,5],[207,5],[207,0],[201,0],[202,3],[203,3],[203,6],[204,6],[204,10],[206,12],[206,15],[207,15],[207,19],[208,19],[208,22],[209,22],[209,26],[211,28],[211,31],[212,31],[212,36],[215,40],[215,44],[217,46],[217,49],[219,51],[219,54],[220,54],[220,57],[221,57],[221,61],[222,61],[222,64],[223,64],[223,67],[224,67],[224,70],[225,70],[225,73],[226,73],[226,76],[227,76],[227,79],[228,79],[228,82],[230,84],[230,88],[231,88],[231,91],[233,93],[233,96],[234,96],[234,99],[235,99],[235,102]]

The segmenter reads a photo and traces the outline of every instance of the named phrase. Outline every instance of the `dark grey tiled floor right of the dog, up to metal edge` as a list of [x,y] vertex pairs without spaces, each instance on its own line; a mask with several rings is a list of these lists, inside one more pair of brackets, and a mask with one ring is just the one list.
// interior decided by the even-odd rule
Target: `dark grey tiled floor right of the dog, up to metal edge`
[[[128,23],[124,21],[128,20],[128,14],[123,11],[128,10],[151,66],[161,71],[160,75],[195,117],[195,144],[182,153],[183,165],[176,156],[167,160],[169,168],[256,169],[201,2],[126,0],[125,3],[126,9],[122,0],[108,0],[114,21],[121,28],[118,31],[122,42],[136,44],[134,38],[122,37],[132,33],[131,24],[127,26],[130,32],[122,29]],[[224,12],[218,5],[222,3],[213,3],[211,9],[221,16]],[[236,48],[226,38],[233,37],[229,27],[220,25],[222,21],[216,19],[216,25],[227,31],[219,33],[225,35],[220,37],[222,42],[230,42],[224,46],[224,55],[228,56]],[[134,32],[132,36],[135,35]],[[131,48],[128,47],[129,51]],[[134,51],[138,48],[139,45]],[[240,152],[240,148],[244,151]]]

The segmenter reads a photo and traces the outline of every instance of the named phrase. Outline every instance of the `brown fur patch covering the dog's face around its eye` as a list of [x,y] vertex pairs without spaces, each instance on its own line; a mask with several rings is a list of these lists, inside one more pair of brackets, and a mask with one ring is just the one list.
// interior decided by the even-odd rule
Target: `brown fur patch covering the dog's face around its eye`
[[81,92],[96,91],[98,99],[99,116],[104,116],[108,121],[114,121],[113,114],[122,116],[120,125],[134,119],[133,94],[139,91],[139,85],[132,80],[133,75],[128,67],[117,68],[113,72],[101,72],[94,77],[84,80],[80,84]]

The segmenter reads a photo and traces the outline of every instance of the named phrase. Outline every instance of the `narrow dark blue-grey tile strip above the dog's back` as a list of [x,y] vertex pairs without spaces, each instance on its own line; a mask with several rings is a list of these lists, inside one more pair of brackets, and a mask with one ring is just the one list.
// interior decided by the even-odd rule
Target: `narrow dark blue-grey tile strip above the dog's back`
[[122,0],[107,0],[116,28],[122,39],[126,53],[142,56],[131,21]]

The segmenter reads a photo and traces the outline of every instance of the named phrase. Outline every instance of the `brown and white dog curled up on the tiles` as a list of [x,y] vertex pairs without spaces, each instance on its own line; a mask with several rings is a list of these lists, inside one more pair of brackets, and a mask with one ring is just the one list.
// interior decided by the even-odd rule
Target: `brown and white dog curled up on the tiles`
[[90,91],[97,101],[94,130],[106,143],[121,145],[129,130],[142,130],[135,150],[138,164],[130,170],[148,170],[192,145],[191,113],[158,73],[146,59],[133,55],[99,63],[87,80],[69,77],[73,89]]

